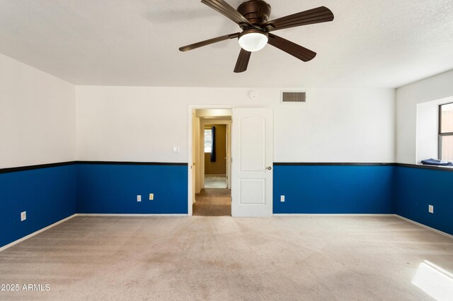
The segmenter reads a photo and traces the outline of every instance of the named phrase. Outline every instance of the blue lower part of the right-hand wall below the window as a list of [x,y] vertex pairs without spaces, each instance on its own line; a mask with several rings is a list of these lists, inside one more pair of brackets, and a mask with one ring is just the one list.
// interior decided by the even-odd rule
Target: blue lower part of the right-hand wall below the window
[[453,170],[397,167],[395,173],[396,214],[453,235]]

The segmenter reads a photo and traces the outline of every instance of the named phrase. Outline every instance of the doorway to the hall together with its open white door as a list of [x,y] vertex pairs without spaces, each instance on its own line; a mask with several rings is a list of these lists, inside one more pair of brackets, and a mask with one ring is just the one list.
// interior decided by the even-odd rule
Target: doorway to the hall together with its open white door
[[[273,110],[271,108],[207,109],[189,106],[188,146],[188,215],[194,213],[194,203],[205,192],[206,124],[226,124],[226,185],[221,197],[229,200],[233,217],[273,216]],[[234,123],[232,122],[234,117]],[[203,142],[202,142],[203,141]],[[231,160],[234,155],[234,160]],[[231,185],[231,182],[233,185]],[[231,189],[231,190],[230,190]],[[197,215],[219,216],[214,213],[220,197],[212,191],[207,206],[212,210]],[[197,199],[198,198],[198,199]],[[228,202],[227,202],[228,203]]]

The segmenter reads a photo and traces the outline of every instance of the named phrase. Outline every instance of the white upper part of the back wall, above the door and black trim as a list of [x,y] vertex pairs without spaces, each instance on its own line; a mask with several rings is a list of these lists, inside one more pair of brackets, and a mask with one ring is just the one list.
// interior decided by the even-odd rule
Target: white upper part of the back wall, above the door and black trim
[[212,105],[272,107],[274,162],[394,162],[393,89],[309,89],[299,105],[250,90],[78,86],[77,160],[187,163],[189,105]]

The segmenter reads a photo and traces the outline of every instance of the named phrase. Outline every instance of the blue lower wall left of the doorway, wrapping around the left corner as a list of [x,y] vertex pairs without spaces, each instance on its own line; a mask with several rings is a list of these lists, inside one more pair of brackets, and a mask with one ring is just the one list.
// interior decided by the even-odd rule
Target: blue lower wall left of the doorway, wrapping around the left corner
[[68,162],[0,169],[0,247],[75,213],[185,215],[187,191],[184,163]]

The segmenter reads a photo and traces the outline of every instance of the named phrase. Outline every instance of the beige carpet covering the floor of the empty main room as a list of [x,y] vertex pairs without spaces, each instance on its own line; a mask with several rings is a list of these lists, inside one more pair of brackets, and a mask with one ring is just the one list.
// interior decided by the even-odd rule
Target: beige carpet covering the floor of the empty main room
[[0,252],[0,300],[430,300],[453,240],[396,217],[76,217]]

